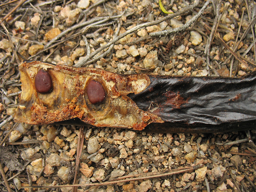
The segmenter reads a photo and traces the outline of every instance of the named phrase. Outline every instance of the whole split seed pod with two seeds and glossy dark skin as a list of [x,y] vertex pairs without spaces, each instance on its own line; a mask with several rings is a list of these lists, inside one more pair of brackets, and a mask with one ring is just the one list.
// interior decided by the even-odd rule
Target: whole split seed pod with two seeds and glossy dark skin
[[146,132],[255,129],[256,73],[243,78],[119,75],[23,61],[14,120]]

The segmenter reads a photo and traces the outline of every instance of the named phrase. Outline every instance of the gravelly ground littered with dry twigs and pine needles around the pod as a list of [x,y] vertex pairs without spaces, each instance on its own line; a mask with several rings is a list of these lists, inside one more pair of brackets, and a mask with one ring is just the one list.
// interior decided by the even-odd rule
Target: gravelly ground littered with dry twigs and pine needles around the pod
[[161,6],[169,14],[158,0],[1,1],[0,191],[255,191],[255,130],[163,134],[13,121],[22,60],[131,75],[256,70],[255,1]]

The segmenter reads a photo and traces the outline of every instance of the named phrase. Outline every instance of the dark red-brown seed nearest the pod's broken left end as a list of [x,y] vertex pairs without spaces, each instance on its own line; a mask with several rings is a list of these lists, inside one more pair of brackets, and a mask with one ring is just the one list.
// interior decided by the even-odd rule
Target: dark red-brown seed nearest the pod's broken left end
[[52,91],[52,77],[47,71],[40,69],[35,77],[36,91],[39,93],[48,93]]

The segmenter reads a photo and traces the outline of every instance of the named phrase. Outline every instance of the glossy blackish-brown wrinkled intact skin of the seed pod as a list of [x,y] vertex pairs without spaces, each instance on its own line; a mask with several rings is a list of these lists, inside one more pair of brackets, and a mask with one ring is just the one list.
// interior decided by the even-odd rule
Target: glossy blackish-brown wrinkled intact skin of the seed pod
[[153,76],[139,94],[128,96],[164,123],[149,132],[227,132],[254,129],[256,72],[243,78]]

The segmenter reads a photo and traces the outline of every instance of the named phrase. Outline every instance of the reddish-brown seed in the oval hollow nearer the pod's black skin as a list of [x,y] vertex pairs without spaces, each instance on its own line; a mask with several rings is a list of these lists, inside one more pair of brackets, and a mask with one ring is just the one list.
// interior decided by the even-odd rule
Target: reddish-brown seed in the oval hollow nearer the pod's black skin
[[92,80],[87,85],[87,96],[92,104],[98,104],[105,100],[106,92],[99,81]]

